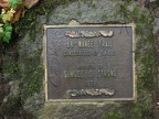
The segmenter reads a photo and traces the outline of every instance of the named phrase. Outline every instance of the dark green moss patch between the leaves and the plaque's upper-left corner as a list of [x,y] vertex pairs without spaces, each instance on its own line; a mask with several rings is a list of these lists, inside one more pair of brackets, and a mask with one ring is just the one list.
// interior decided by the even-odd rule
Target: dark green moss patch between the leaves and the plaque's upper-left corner
[[46,15],[49,20],[49,14],[51,11],[60,4],[68,4],[71,0],[42,0],[32,9],[25,11],[23,18],[20,19],[19,22],[13,24],[15,34],[19,34],[20,37],[24,36],[26,31],[30,32],[31,41],[35,39],[36,30],[42,30],[42,28],[38,28],[35,21],[39,15]]

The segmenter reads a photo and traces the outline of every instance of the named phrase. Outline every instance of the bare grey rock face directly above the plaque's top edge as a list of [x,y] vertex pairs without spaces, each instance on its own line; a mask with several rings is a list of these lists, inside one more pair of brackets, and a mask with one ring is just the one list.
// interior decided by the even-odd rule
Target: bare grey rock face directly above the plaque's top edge
[[81,24],[86,23],[123,23],[120,14],[116,13],[119,8],[119,1],[94,0],[93,2],[73,2],[68,7],[59,7],[50,15],[47,24],[68,24],[75,20]]

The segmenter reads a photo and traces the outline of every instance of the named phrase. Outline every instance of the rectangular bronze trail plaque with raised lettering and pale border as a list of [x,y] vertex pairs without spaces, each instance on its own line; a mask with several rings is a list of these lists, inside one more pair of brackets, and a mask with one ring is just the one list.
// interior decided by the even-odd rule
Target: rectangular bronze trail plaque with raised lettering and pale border
[[134,25],[44,25],[45,97],[135,100]]

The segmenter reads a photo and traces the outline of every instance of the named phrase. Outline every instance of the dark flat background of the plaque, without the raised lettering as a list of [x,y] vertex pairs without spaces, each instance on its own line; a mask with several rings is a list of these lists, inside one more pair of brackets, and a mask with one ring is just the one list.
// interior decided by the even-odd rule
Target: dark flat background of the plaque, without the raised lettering
[[[66,31],[113,31],[112,37],[78,37],[65,36]],[[46,66],[47,66],[47,98],[65,99],[68,89],[115,90],[113,96],[77,96],[71,99],[120,99],[134,97],[132,74],[132,28],[131,26],[76,26],[46,29]],[[67,48],[67,42],[73,41],[74,47]],[[80,48],[78,41],[93,41],[93,48]],[[112,41],[113,47],[99,47],[98,41]],[[91,56],[64,56],[64,52],[87,51],[97,52]],[[114,55],[102,55],[102,51],[114,51]],[[64,77],[64,71],[80,71],[83,65],[93,65],[93,69],[81,69],[84,77]],[[103,67],[99,67],[102,65]],[[116,69],[116,76],[99,77],[98,71]],[[93,76],[89,77],[89,71]]]

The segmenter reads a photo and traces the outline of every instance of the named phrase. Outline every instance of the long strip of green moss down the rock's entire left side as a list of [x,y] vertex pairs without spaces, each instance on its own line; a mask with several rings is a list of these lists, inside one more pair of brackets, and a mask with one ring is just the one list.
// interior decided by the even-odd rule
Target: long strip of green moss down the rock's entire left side
[[[32,9],[25,9],[25,15],[13,24],[13,32],[18,34],[17,41],[23,41],[15,42],[14,48],[10,47],[6,51],[3,57],[4,79],[7,82],[17,80],[19,87],[19,94],[10,95],[7,102],[0,107],[1,113],[8,118],[22,113],[28,118],[28,112],[23,110],[23,104],[35,93],[39,94],[43,90],[42,44],[36,40],[36,36],[42,40],[42,24],[38,22],[38,17],[45,15],[47,18],[49,13],[59,4],[68,4],[68,2],[70,0],[42,0]],[[26,37],[25,41],[23,37],[26,33],[29,33],[30,40]],[[33,117],[30,116],[29,119],[33,119]]]

